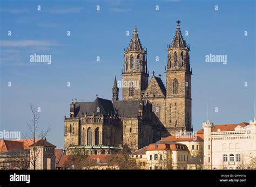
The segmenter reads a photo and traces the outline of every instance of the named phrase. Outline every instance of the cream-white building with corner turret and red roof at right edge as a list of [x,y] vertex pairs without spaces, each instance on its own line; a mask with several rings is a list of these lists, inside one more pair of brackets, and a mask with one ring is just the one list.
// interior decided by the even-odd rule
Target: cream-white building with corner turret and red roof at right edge
[[256,119],[250,124],[203,123],[205,169],[253,169],[256,157]]

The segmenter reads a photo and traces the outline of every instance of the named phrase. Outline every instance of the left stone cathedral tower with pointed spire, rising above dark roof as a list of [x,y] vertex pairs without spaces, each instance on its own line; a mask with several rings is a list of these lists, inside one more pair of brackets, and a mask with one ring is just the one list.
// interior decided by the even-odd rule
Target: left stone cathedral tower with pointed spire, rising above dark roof
[[129,47],[124,51],[123,100],[138,100],[149,82],[147,74],[147,52],[140,43],[137,28],[134,27]]

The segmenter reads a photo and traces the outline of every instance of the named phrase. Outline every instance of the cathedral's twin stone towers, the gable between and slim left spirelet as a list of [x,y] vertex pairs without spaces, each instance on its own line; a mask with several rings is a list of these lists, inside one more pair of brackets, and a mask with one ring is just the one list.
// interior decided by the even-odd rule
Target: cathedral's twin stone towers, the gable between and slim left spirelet
[[[127,85],[123,86],[123,100],[149,99],[153,112],[172,135],[177,131],[192,131],[190,46],[186,45],[179,24],[178,20],[173,42],[167,47],[166,87],[154,72],[149,83],[147,51],[140,43],[136,27],[130,45],[124,51],[122,71],[123,85]],[[118,99],[116,96],[115,84],[113,100]]]

